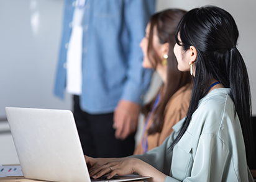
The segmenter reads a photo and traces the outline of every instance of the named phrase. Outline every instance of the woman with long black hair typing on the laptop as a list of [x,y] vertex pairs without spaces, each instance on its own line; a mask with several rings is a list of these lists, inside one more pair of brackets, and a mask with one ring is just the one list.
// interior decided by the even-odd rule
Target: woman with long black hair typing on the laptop
[[93,178],[139,173],[150,181],[254,181],[250,86],[229,12],[192,9],[176,29],[180,71],[194,77],[188,113],[159,147],[126,158],[85,157]]

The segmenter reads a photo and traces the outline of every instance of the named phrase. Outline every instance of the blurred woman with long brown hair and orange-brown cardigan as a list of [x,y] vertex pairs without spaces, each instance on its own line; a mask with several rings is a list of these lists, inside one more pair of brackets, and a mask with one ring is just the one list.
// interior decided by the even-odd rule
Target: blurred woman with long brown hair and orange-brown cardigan
[[146,119],[142,139],[134,154],[143,154],[167,138],[172,127],[186,116],[191,97],[191,76],[189,72],[178,71],[173,53],[175,30],[181,17],[181,9],[167,9],[152,15],[140,42],[144,52],[142,66],[154,69],[163,84],[156,97],[142,108]]

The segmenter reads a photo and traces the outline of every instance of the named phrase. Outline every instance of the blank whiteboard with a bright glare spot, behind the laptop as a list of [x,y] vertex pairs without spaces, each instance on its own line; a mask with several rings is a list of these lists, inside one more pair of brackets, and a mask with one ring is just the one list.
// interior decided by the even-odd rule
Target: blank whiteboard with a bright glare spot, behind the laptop
[[5,106],[71,108],[53,95],[63,1],[0,1],[0,118]]

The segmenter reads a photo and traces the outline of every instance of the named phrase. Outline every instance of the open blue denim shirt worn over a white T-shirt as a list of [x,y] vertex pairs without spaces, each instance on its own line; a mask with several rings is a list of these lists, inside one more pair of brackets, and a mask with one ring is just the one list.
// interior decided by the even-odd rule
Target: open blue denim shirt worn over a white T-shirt
[[[65,1],[63,35],[54,93],[63,98],[66,52],[75,0]],[[88,113],[114,111],[120,99],[142,104],[152,70],[142,67],[139,43],[145,35],[155,0],[86,0],[83,18],[82,93]]]

